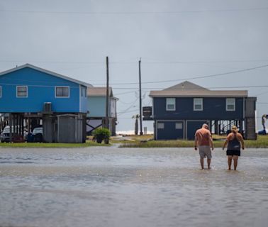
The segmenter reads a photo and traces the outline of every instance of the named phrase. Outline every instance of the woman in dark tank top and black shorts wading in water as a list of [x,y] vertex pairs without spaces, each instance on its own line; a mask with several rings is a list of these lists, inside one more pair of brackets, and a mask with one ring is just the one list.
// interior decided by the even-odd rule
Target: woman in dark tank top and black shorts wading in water
[[233,167],[236,170],[238,166],[238,157],[240,156],[240,149],[244,150],[244,140],[240,133],[238,133],[238,128],[236,126],[232,126],[231,132],[227,135],[227,138],[223,144],[223,150],[225,146],[227,146],[226,155],[228,156],[228,167],[231,170],[232,160]]

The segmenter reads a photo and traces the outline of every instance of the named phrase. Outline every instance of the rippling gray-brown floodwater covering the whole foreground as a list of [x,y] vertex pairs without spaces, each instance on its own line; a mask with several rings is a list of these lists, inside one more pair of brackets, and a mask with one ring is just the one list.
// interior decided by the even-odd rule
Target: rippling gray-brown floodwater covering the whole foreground
[[1,148],[0,226],[267,226],[268,149],[211,166],[193,148]]

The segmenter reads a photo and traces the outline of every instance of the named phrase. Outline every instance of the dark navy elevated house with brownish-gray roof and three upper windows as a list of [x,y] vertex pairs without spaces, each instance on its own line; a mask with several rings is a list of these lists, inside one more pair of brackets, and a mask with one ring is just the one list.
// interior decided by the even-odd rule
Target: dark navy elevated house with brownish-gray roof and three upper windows
[[235,125],[246,139],[257,138],[257,99],[248,97],[245,90],[210,90],[186,81],[162,91],[151,91],[149,96],[152,111],[145,107],[143,119],[154,121],[156,140],[193,140],[203,123],[208,123],[216,134],[226,134]]

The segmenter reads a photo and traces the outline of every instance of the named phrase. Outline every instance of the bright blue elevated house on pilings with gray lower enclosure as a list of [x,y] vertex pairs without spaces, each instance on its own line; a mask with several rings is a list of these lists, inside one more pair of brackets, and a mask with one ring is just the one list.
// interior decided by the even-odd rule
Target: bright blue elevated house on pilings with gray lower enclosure
[[42,125],[45,142],[83,143],[87,87],[92,86],[29,64],[1,72],[1,124],[14,128],[11,140]]

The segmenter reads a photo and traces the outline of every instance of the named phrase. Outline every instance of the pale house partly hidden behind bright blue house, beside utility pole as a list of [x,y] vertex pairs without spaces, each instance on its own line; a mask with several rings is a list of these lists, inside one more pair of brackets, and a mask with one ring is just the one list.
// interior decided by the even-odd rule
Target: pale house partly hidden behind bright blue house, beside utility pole
[[[95,128],[104,127],[106,121],[106,87],[91,87],[87,90],[86,132],[90,135]],[[108,89],[108,128],[111,135],[116,135],[116,101],[113,89]]]

